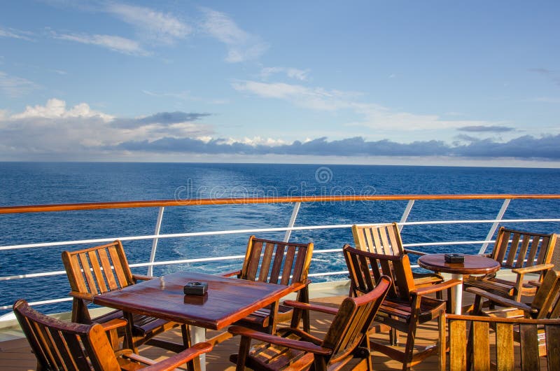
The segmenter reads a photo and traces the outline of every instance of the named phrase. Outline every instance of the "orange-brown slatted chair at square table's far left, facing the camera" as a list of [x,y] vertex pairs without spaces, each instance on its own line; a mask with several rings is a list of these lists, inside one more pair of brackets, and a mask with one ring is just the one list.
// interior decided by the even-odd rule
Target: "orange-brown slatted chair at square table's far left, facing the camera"
[[[123,311],[110,311],[108,314],[91,318],[87,304],[92,302],[94,295],[125,288],[139,280],[152,279],[149,276],[132,274],[120,241],[79,251],[63,251],[62,262],[70,281],[70,295],[73,297],[72,321],[76,323],[104,323],[114,318],[123,318]],[[133,318],[132,348],[147,343],[179,352],[188,346],[188,344],[176,344],[153,338],[165,330],[180,325],[179,323],[143,315],[134,315],[131,318]],[[186,335],[185,338],[189,339],[186,325],[182,325],[182,330],[183,335]],[[113,335],[113,346],[117,346],[115,335]]]

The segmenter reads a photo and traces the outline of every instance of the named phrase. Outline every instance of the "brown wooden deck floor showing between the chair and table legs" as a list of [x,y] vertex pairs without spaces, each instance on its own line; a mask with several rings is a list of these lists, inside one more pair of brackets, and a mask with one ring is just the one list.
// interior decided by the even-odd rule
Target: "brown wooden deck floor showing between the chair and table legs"
[[[314,302],[321,302],[322,304],[332,304],[336,305],[342,300],[343,297],[325,297],[313,300]],[[318,337],[323,337],[325,330],[328,329],[330,325],[330,318],[332,316],[327,316],[323,314],[311,314],[311,325],[312,332]],[[419,345],[429,344],[434,342],[437,338],[437,324],[428,323],[427,325],[421,326],[419,332],[417,333],[416,343]],[[208,336],[211,337],[215,332],[209,331]],[[172,330],[166,332],[165,337],[174,337],[176,341],[181,339],[180,330]],[[386,337],[386,334],[378,334],[377,336]],[[404,335],[401,339],[402,342],[405,341]],[[207,353],[207,370],[208,371],[232,371],[235,367],[229,361],[229,356],[231,353],[237,353],[238,347],[237,337],[228,339],[227,341],[218,344],[214,347],[214,350]],[[148,358],[153,358],[155,360],[166,358],[171,355],[171,352],[165,353],[162,349],[153,348],[151,346],[143,346],[140,349],[140,353]],[[416,365],[412,370],[437,370],[437,356],[432,356],[427,358],[419,365]],[[375,370],[400,370],[402,364],[391,360],[390,358],[380,354],[374,353],[373,363]],[[0,371],[25,371],[25,370],[35,370],[36,362],[34,355],[31,353],[27,340],[24,339],[14,339],[6,342],[0,342]]]

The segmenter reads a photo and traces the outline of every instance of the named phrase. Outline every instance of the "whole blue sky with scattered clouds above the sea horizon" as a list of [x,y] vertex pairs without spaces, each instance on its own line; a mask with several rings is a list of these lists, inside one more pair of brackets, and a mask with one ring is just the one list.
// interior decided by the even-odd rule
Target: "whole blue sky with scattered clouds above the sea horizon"
[[560,167],[559,1],[2,1],[0,161]]

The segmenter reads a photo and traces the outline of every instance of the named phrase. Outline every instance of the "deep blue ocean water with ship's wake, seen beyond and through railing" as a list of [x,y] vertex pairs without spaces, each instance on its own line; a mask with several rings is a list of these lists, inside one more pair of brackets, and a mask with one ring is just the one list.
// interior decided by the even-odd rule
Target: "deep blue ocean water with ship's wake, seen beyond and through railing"
[[[197,197],[286,195],[391,195],[560,193],[559,169],[482,167],[405,167],[361,165],[262,165],[197,163],[0,162],[0,204],[58,204],[126,200],[174,200]],[[296,225],[337,225],[399,221],[407,202],[303,204]],[[409,221],[491,219],[502,201],[416,202]],[[560,202],[514,200],[504,218],[557,218]],[[293,204],[168,207],[162,234],[288,225]],[[158,208],[113,209],[0,215],[0,246],[46,241],[152,235]],[[510,225],[516,226],[516,225]],[[559,232],[559,223],[527,223],[523,228]],[[405,243],[482,240],[489,225],[406,226]],[[259,237],[282,239],[283,232]],[[177,260],[244,253],[248,235],[160,239],[156,260]],[[293,241],[314,241],[316,250],[351,243],[349,229],[295,231]],[[83,246],[55,246],[0,251],[0,276],[64,270],[60,253]],[[446,247],[447,248],[447,247]],[[475,253],[479,246],[453,246]],[[145,262],[151,241],[126,241],[131,263]],[[423,248],[435,252],[438,248]],[[239,261],[239,264],[241,262]],[[224,272],[236,262],[156,267],[155,274],[176,269]],[[315,254],[311,272],[344,269],[341,254]],[[146,273],[146,268],[135,272]],[[321,279],[314,279],[320,281]],[[0,305],[23,297],[29,301],[64,297],[66,276],[0,281]],[[41,307],[69,310],[70,304]],[[5,311],[0,311],[3,314]]]

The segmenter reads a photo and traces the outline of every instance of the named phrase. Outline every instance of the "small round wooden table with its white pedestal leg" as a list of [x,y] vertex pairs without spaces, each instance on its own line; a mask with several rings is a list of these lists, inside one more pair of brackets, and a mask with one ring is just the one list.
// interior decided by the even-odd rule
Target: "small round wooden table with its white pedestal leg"
[[459,279],[459,283],[454,288],[455,308],[454,314],[461,314],[463,304],[463,274],[489,274],[500,269],[500,263],[482,255],[463,255],[464,262],[446,262],[445,254],[426,254],[418,258],[420,267],[433,270],[435,272],[451,273],[451,277]]

